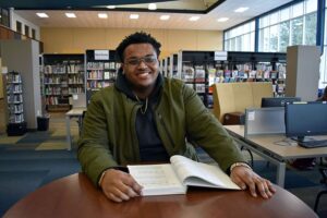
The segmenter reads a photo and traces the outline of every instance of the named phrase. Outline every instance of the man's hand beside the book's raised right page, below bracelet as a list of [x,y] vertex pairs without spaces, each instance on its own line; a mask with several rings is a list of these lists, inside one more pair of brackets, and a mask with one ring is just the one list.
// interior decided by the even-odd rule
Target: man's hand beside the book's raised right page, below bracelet
[[247,187],[254,197],[258,193],[262,197],[269,198],[276,192],[269,180],[261,178],[252,169],[244,166],[234,167],[230,173],[230,178],[242,190]]

